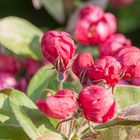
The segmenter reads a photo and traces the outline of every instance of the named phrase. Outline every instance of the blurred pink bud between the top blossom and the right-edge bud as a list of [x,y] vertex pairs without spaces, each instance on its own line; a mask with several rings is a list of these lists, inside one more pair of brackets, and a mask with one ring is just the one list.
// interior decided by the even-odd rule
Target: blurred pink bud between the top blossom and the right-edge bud
[[106,42],[100,44],[101,56],[112,55],[118,49],[124,46],[131,46],[131,41],[127,39],[123,34],[114,34]]

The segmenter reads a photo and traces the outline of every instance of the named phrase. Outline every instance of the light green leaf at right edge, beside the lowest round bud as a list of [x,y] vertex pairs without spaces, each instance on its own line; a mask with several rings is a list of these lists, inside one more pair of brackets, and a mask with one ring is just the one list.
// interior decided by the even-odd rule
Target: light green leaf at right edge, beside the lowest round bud
[[114,97],[120,111],[130,105],[140,103],[140,87],[118,85],[114,89]]

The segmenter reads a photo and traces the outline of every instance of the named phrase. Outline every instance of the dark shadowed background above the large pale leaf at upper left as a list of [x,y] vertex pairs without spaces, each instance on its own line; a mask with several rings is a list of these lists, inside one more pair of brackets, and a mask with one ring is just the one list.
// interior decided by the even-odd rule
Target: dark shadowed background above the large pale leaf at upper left
[[7,16],[24,18],[40,28],[60,26],[44,8],[36,10],[31,0],[0,0],[0,18]]

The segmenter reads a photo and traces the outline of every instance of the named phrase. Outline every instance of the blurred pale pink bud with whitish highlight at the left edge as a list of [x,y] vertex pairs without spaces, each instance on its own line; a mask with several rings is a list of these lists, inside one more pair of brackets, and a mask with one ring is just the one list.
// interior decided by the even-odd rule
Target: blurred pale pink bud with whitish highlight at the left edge
[[16,79],[10,73],[0,72],[0,89],[14,88],[17,82]]

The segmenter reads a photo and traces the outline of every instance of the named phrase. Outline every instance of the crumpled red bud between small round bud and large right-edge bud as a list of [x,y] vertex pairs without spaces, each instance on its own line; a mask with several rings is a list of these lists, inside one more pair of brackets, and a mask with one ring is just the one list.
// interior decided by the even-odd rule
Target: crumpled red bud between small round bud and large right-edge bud
[[95,61],[87,74],[93,81],[105,80],[106,84],[114,85],[120,80],[121,64],[112,56],[104,56]]

